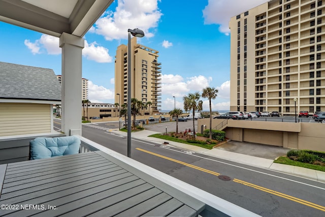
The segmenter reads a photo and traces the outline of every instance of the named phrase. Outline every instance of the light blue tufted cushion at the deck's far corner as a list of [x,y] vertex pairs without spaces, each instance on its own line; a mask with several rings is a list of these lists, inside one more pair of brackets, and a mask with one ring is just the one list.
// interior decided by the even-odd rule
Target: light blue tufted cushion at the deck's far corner
[[30,160],[79,153],[80,139],[76,136],[39,137],[29,142]]

